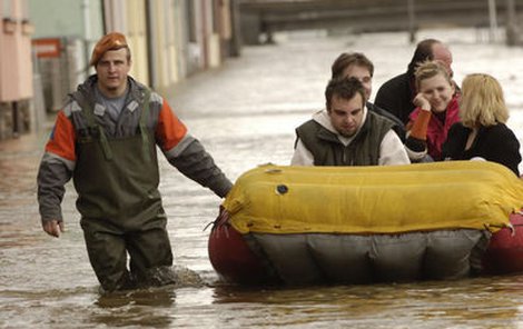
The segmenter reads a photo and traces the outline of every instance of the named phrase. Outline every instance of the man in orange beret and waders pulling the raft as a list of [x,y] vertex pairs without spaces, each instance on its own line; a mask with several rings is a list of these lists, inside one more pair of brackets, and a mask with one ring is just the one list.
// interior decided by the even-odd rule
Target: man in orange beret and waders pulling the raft
[[90,64],[96,74],[59,111],[40,163],[43,230],[57,238],[63,232],[60,203],[72,178],[89,260],[101,288],[174,283],[156,146],[181,173],[221,198],[231,182],[167,101],[128,76],[131,53],[124,34],[102,37]]

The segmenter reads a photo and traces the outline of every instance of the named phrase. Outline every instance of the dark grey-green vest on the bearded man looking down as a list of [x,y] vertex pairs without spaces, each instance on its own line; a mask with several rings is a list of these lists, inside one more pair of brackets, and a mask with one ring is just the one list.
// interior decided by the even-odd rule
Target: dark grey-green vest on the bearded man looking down
[[391,120],[368,111],[362,129],[348,146],[314,120],[299,126],[296,134],[313,153],[314,166],[376,166],[382,140],[393,126]]

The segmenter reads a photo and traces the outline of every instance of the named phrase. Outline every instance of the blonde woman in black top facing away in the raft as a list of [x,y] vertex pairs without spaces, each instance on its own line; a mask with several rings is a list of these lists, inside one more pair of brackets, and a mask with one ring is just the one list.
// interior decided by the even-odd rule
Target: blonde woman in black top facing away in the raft
[[443,144],[446,160],[486,160],[501,163],[520,176],[520,142],[505,126],[509,110],[500,82],[483,73],[463,80],[460,101],[462,122],[454,123]]

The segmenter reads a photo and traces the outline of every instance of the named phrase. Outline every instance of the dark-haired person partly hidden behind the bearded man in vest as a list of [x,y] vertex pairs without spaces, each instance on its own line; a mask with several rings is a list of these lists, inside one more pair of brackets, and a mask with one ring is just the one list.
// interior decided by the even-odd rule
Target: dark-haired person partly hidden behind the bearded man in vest
[[389,111],[368,101],[373,90],[374,64],[365,54],[361,52],[343,52],[334,60],[330,71],[330,79],[356,78],[359,80],[365,88],[366,108],[393,121],[393,130],[402,141],[405,141],[405,124]]

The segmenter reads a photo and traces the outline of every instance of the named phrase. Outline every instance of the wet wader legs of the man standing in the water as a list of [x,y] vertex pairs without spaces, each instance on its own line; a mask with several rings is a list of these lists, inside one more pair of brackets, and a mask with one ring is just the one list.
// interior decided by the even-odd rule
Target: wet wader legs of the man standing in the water
[[175,283],[166,223],[160,216],[124,229],[111,221],[81,219],[89,260],[103,290]]

